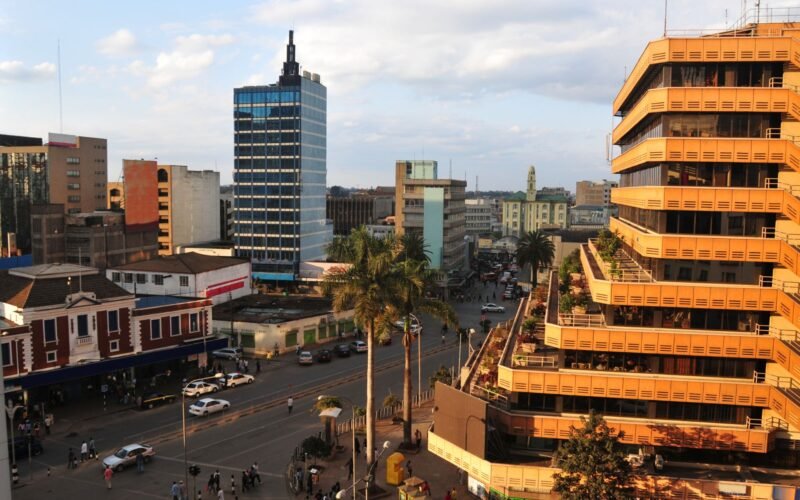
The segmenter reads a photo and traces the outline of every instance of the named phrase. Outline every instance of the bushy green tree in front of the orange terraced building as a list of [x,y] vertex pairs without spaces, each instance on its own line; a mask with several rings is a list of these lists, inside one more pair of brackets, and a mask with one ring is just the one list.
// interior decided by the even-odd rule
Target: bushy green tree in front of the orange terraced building
[[592,410],[581,417],[582,427],[570,427],[569,439],[553,456],[561,468],[555,474],[553,491],[567,500],[633,498],[631,466],[625,460],[619,439],[602,416]]

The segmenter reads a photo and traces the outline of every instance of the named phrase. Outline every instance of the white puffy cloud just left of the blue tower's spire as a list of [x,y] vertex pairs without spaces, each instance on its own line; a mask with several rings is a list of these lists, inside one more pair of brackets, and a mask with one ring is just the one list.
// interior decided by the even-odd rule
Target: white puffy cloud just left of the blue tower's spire
[[232,35],[179,36],[169,52],[160,52],[155,63],[148,66],[141,60],[128,65],[128,72],[134,76],[144,76],[152,88],[166,88],[181,81],[200,76],[214,63],[214,48],[230,45],[235,41]]

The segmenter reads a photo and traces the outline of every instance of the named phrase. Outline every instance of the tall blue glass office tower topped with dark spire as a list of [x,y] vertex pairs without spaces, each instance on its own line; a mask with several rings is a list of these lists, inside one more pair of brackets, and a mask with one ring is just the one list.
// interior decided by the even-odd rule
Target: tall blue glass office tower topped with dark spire
[[234,243],[253,277],[294,280],[300,262],[324,260],[327,89],[300,72],[289,32],[277,83],[234,89]]

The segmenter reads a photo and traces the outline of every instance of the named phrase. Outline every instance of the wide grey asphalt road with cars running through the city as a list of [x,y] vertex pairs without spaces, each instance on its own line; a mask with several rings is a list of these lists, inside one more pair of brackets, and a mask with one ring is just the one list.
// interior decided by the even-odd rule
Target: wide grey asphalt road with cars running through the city
[[[478,285],[476,290],[482,294],[488,290],[491,294],[494,287],[490,285],[484,289]],[[500,290],[497,289],[498,294]],[[516,304],[508,302],[504,305],[507,306],[505,313],[489,315],[493,323],[513,316]],[[454,307],[461,325],[474,327],[478,331],[480,303],[454,304]],[[458,341],[451,329],[443,346],[441,323],[427,317],[421,320],[424,326],[422,377],[423,386],[427,388],[428,378],[436,369],[457,365]],[[473,343],[477,344],[482,339],[483,335],[476,335]],[[389,391],[398,398],[402,395],[402,344],[398,336],[394,336],[393,340],[392,345],[376,347],[377,405]],[[415,343],[412,355],[415,386],[416,349]],[[463,349],[462,362],[466,358],[466,346]],[[253,412],[230,423],[224,423],[229,418],[223,414],[193,417],[187,413],[187,459],[188,463],[200,466],[198,488],[205,486],[212,471],[219,470],[223,477],[222,484],[229,493],[231,474],[239,484],[242,470],[257,461],[264,484],[254,493],[240,493],[239,496],[290,498],[286,494],[283,472],[292,450],[304,438],[322,431],[319,418],[312,411],[316,396],[321,393],[344,396],[359,406],[365,406],[365,368],[366,356],[363,354],[334,358],[329,364],[313,366],[298,366],[293,355],[283,356],[277,363],[262,363],[262,372],[255,383],[218,393],[219,398],[231,402],[231,411],[253,408]],[[289,394],[296,396],[291,414],[286,407]],[[190,403],[187,401],[187,406]],[[349,415],[349,409],[345,409],[344,415]],[[218,425],[209,427],[211,423]],[[184,448],[180,429],[179,401],[153,410],[130,410],[89,420],[77,436],[56,432],[43,440],[45,452],[34,460],[33,481],[29,480],[27,462],[20,461],[24,486],[13,491],[13,499],[91,498],[93,494],[114,499],[167,498],[172,482],[184,477]],[[79,448],[80,441],[88,436],[95,439],[101,458],[121,445],[151,439],[159,442],[156,445],[157,456],[146,466],[143,474],[137,473],[135,468],[115,474],[113,489],[106,491],[99,462],[79,465],[76,470],[68,471],[65,467],[68,447]],[[359,464],[359,468],[363,466],[363,463]],[[51,468],[50,476],[46,474],[47,467]],[[189,481],[192,482],[191,477]],[[196,491],[192,498],[196,498]],[[210,496],[206,495],[205,498]]]

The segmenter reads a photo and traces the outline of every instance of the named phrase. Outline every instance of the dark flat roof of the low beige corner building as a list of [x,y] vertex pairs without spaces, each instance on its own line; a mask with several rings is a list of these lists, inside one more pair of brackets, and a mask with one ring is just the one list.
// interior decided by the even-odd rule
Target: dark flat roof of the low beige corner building
[[331,312],[331,301],[325,297],[255,294],[214,306],[213,317],[216,321],[276,324]]

